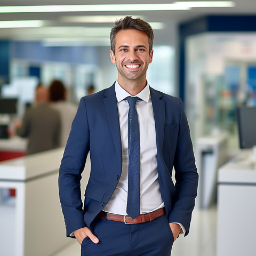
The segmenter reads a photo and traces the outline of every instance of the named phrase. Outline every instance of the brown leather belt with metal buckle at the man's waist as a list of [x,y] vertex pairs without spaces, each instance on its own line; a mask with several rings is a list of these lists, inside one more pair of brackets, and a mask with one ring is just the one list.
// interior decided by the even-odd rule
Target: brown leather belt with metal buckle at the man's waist
[[[97,218],[104,219],[105,213],[106,212],[101,211],[97,215]],[[107,214],[107,216],[106,216],[107,220],[121,221],[121,222],[124,222],[125,224],[138,224],[138,223],[143,223],[146,221],[155,220],[156,218],[165,214],[165,209],[160,208],[154,212],[140,214],[135,219],[132,219],[131,217],[129,217],[127,215],[118,215],[118,214],[113,214],[113,213],[106,213],[106,214]]]

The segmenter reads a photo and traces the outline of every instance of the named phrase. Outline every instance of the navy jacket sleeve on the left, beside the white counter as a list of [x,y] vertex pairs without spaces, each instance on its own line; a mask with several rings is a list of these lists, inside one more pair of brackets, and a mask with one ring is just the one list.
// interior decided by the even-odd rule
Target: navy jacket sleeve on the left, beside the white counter
[[59,195],[67,236],[85,227],[81,200],[81,174],[90,148],[90,131],[87,123],[85,100],[80,100],[77,114],[63,154],[59,170]]

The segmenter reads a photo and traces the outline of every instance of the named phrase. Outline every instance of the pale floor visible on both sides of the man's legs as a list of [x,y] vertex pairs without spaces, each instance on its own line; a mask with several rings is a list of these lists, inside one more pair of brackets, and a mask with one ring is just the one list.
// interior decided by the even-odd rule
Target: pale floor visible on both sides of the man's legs
[[[179,237],[172,249],[172,256],[215,256],[217,209],[195,209],[191,221],[190,233]],[[79,256],[80,247],[70,238],[70,245],[51,256]],[[159,255],[160,256],[160,255]]]

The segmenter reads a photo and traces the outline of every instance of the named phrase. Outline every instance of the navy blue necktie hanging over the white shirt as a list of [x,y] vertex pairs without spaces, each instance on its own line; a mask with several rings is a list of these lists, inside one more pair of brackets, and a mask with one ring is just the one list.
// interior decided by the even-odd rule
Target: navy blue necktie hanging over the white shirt
[[140,131],[137,110],[135,108],[138,97],[127,97],[128,113],[128,196],[126,212],[135,219],[140,214]]

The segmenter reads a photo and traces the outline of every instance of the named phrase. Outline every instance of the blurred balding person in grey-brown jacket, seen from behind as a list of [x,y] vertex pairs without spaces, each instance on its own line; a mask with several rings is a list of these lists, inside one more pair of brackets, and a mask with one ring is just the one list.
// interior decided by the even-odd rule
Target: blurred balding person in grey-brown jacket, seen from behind
[[60,114],[49,105],[48,89],[37,87],[35,100],[36,105],[27,109],[22,122],[14,121],[16,133],[28,138],[27,155],[60,146]]

